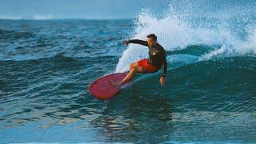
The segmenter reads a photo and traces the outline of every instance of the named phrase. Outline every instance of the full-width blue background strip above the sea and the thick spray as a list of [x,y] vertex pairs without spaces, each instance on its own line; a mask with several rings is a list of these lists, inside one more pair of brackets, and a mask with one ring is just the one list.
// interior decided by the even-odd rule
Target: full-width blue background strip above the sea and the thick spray
[[[127,19],[142,10],[162,15],[254,14],[255,0],[0,0],[0,19]],[[207,15],[208,14],[208,15]]]

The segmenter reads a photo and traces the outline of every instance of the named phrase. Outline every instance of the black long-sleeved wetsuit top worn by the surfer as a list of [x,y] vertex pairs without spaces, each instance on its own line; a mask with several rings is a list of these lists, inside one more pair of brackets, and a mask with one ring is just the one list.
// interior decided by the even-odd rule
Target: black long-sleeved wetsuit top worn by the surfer
[[157,43],[155,47],[150,47],[146,41],[142,41],[139,39],[132,39],[128,41],[129,43],[138,43],[143,46],[147,46],[149,48],[149,55],[150,55],[150,64],[155,66],[157,69],[160,69],[163,65],[163,72],[162,76],[166,76],[167,70],[167,62],[166,62],[166,50]]

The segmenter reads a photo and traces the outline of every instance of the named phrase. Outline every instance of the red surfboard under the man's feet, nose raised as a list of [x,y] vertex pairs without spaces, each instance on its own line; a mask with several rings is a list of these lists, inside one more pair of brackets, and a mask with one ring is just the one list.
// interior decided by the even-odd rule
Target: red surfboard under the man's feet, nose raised
[[90,94],[94,96],[94,98],[98,98],[100,100],[106,100],[113,98],[115,94],[121,89],[116,88],[110,83],[110,80],[115,82],[122,81],[123,78],[126,77],[126,73],[116,73],[116,74],[108,74],[103,76],[102,78],[98,78],[94,82],[90,83],[89,91]]

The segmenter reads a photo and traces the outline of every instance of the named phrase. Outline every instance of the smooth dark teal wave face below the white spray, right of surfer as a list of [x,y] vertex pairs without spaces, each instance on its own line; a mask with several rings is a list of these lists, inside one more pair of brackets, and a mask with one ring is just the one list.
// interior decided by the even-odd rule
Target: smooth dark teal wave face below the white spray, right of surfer
[[[170,98],[178,111],[254,111],[256,65],[254,57],[213,58],[177,66],[167,71],[166,83],[160,86],[161,74],[143,74],[116,97],[126,102],[138,99]],[[122,100],[120,100],[122,99]],[[193,103],[193,104],[192,104]]]

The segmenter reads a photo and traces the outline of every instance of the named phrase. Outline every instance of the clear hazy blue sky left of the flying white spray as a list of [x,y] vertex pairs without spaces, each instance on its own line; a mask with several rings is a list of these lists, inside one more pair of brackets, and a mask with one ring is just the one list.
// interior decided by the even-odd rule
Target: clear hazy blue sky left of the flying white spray
[[0,18],[136,18],[142,9],[167,6],[167,0],[0,0]]

